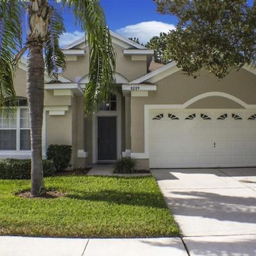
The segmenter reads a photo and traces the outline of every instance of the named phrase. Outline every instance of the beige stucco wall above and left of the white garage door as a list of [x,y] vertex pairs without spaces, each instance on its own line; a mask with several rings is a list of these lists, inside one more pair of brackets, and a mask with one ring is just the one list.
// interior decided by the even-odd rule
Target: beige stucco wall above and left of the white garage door
[[[183,75],[181,71],[158,81],[156,92],[148,97],[131,97],[131,151],[144,152],[144,105],[184,104],[193,97],[206,92],[224,92],[240,98],[246,104],[256,104],[256,76],[240,69],[218,81],[207,71],[197,79]],[[189,108],[242,108],[226,98],[203,99]]]

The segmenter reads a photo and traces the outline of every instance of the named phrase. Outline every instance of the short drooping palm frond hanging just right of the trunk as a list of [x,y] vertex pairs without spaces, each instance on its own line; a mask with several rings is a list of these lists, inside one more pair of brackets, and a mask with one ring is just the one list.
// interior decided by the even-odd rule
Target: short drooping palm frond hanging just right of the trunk
[[66,68],[65,55],[59,47],[59,38],[64,32],[63,17],[58,10],[53,9],[45,43],[45,61],[48,75],[55,79],[57,79],[59,69]]

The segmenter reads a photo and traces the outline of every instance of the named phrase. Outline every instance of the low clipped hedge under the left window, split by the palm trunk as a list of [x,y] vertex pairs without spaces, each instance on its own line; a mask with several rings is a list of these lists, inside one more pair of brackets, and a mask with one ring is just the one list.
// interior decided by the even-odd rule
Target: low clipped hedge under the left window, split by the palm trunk
[[[30,159],[1,159],[0,179],[30,179]],[[56,169],[52,160],[43,160],[44,177],[55,175]]]

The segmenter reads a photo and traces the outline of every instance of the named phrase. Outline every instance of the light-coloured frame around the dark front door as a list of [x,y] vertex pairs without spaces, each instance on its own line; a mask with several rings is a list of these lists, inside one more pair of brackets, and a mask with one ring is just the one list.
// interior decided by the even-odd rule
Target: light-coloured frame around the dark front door
[[[117,117],[117,159],[122,152],[122,96],[117,96],[117,111],[99,111],[92,114],[92,162],[98,163],[98,117]],[[107,161],[104,161],[107,162]],[[113,162],[113,161],[112,161]]]

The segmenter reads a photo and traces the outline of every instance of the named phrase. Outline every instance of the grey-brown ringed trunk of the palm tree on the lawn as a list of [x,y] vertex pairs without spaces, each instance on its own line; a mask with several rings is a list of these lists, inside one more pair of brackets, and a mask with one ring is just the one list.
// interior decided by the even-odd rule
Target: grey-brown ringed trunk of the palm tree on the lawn
[[32,44],[27,59],[27,96],[31,123],[31,197],[46,193],[43,180],[42,123],[44,59],[42,44]]

